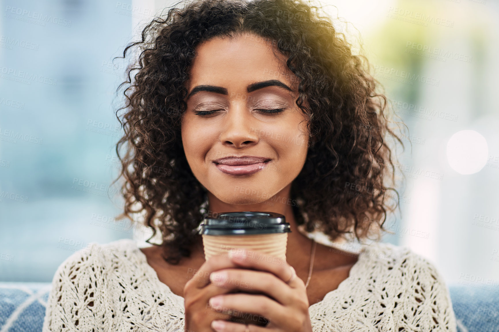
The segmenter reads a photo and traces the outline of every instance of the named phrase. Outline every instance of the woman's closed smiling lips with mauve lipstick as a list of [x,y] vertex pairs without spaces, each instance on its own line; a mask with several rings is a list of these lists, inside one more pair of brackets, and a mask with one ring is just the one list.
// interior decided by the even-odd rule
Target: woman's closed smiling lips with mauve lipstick
[[224,157],[213,161],[222,172],[230,175],[250,175],[265,168],[269,158],[243,156]]

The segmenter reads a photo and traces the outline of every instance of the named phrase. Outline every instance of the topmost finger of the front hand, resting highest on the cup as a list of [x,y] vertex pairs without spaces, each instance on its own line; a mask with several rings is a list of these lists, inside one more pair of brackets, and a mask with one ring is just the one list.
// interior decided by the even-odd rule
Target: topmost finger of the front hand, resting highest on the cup
[[303,284],[300,278],[293,277],[296,273],[286,261],[267,255],[261,251],[234,248],[229,251],[229,258],[238,266],[271,272],[292,288],[299,287],[300,282]]

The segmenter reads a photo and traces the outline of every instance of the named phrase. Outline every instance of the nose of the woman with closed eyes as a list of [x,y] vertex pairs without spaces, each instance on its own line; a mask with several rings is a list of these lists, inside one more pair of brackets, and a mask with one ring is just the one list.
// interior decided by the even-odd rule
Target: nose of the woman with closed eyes
[[220,136],[223,145],[244,148],[258,143],[258,131],[253,127],[250,112],[239,104],[231,107],[225,117],[225,126]]

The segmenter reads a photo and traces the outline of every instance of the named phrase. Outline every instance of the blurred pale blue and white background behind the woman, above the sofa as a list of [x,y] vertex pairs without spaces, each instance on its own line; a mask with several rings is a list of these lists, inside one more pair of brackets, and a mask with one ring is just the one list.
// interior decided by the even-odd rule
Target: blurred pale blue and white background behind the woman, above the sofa
[[[126,63],[112,59],[177,1],[125,1],[0,1],[0,281],[50,282],[90,242],[145,245],[115,219]],[[498,2],[315,3],[362,45],[409,128],[395,171],[406,178],[401,213],[383,241],[450,284],[499,291]]]

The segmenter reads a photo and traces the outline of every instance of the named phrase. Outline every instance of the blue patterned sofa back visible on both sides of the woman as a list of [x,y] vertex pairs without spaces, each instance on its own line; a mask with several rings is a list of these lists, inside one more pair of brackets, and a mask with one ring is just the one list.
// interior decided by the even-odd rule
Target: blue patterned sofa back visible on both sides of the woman
[[[0,283],[0,331],[41,332],[50,283]],[[458,332],[499,332],[499,294],[450,285]]]

